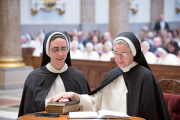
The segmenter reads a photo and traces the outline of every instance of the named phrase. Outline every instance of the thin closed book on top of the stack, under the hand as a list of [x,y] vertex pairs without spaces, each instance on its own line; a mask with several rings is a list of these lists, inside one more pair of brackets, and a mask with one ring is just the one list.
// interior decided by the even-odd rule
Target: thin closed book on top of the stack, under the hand
[[47,106],[68,106],[68,105],[73,105],[73,104],[79,104],[79,100],[74,100],[74,101],[69,101],[69,102],[48,102],[46,105]]

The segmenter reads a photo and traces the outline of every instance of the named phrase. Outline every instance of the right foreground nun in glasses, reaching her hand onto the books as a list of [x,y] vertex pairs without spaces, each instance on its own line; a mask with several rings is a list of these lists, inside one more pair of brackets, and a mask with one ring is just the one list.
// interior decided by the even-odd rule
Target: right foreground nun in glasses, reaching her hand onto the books
[[125,112],[146,120],[171,120],[158,81],[151,72],[136,36],[123,32],[113,42],[118,67],[89,94],[61,93],[53,101],[80,100],[83,111]]

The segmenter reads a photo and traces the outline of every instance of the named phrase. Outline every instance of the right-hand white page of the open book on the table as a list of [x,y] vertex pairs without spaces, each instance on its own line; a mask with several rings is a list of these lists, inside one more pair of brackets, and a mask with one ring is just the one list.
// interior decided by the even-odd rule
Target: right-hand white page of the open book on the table
[[109,110],[100,110],[98,111],[100,118],[130,118],[124,112],[114,112]]

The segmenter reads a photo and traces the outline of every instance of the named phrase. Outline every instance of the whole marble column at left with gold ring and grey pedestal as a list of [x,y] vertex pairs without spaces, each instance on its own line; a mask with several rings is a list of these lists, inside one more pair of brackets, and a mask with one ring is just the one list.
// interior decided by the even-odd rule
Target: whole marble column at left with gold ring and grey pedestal
[[0,89],[23,88],[32,67],[21,57],[20,0],[0,0]]

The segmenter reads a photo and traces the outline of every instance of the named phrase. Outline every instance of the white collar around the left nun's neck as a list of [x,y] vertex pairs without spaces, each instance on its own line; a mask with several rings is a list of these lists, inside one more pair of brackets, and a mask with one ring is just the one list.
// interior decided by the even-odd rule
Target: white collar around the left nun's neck
[[68,69],[68,66],[67,64],[65,63],[64,64],[64,67],[60,70],[56,70],[50,63],[48,63],[46,65],[46,68],[50,71],[50,72],[53,72],[53,73],[63,73],[64,71],[66,71]]

